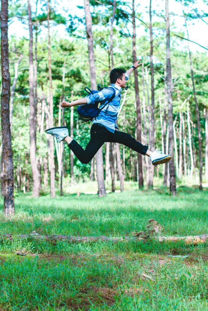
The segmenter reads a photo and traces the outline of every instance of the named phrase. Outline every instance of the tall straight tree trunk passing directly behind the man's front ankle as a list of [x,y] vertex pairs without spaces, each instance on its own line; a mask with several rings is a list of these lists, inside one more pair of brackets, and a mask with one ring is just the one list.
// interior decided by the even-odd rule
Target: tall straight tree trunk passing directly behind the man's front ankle
[[[153,151],[155,145],[154,139],[154,66],[153,66],[153,38],[152,38],[152,0],[150,0],[149,4],[149,30],[150,30],[150,71],[151,71],[151,135],[149,142],[149,149]],[[150,126],[150,124],[149,124]],[[149,180],[148,180],[148,188],[153,187],[153,176],[154,176],[154,165],[152,165],[149,160]]]

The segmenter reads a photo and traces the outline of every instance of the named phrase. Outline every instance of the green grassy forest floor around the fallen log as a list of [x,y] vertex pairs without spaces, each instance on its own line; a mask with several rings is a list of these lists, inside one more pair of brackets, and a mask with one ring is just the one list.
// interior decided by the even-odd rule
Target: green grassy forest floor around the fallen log
[[[127,190],[98,198],[51,199],[20,194],[15,216],[0,214],[0,310],[207,310],[207,244],[67,243],[20,239],[18,234],[131,236],[153,218],[164,235],[208,232],[208,191],[179,187]],[[1,198],[1,206],[3,198]],[[26,254],[19,256],[17,253]],[[171,257],[180,255],[182,257]],[[184,257],[186,256],[186,257]]]

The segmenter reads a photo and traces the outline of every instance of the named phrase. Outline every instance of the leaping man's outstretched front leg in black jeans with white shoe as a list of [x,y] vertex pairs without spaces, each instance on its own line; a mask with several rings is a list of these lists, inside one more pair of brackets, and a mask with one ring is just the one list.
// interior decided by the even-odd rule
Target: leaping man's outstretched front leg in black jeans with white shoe
[[149,156],[153,165],[167,163],[172,158],[170,155],[162,154],[160,151],[157,151],[157,149],[153,152],[148,150],[148,146],[144,146],[125,132],[115,131],[114,134],[111,135],[111,139],[112,142],[118,142],[142,155]]

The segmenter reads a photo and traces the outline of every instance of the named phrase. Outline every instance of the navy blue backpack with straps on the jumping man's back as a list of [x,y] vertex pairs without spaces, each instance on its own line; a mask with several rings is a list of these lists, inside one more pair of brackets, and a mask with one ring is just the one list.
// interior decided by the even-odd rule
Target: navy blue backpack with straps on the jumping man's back
[[100,111],[106,105],[109,105],[110,101],[115,97],[115,94],[116,94],[116,91],[115,91],[114,87],[110,87],[110,86],[105,86],[105,87],[101,88],[101,86],[98,84],[98,90],[90,90],[89,87],[85,87],[85,91],[88,94],[95,94],[95,93],[98,93],[98,92],[102,91],[103,89],[111,89],[114,92],[114,94],[108,99],[108,101],[104,104],[104,106],[101,109],[98,108],[99,101],[95,102],[94,104],[80,105],[77,108],[78,114],[82,118],[85,119],[85,122],[92,121],[94,118],[96,118],[99,115]]

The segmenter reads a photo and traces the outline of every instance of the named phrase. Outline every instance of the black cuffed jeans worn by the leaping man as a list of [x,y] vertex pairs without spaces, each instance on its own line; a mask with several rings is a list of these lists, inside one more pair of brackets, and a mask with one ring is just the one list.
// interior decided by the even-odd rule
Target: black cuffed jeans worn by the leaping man
[[91,139],[85,150],[74,139],[68,145],[80,162],[85,164],[92,160],[104,142],[118,142],[142,155],[145,155],[148,150],[148,146],[144,146],[140,142],[137,142],[131,135],[120,131],[112,133],[104,126],[98,124],[92,125],[90,129],[90,137]]

